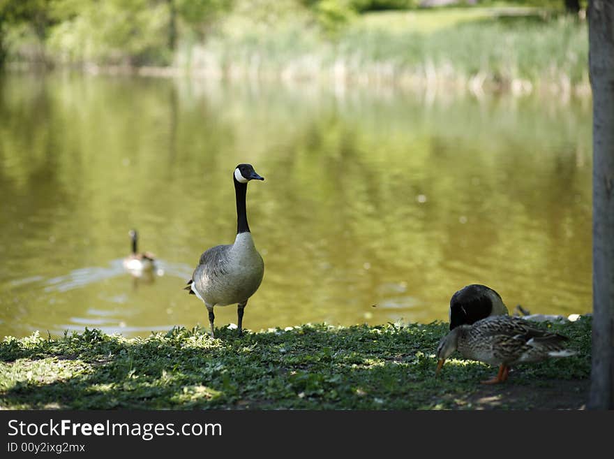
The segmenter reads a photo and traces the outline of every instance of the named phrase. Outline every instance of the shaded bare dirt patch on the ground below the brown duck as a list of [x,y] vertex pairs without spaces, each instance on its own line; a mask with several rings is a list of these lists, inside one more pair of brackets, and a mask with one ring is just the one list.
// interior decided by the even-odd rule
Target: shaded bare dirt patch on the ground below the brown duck
[[545,384],[518,385],[510,381],[489,386],[457,400],[468,409],[585,409],[590,380],[549,380]]

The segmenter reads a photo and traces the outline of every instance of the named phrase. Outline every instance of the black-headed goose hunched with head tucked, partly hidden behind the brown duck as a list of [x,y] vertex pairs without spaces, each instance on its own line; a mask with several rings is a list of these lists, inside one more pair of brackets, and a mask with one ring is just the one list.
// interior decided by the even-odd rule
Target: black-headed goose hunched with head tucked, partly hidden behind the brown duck
[[450,298],[450,330],[488,316],[508,315],[499,293],[481,284],[464,286]]

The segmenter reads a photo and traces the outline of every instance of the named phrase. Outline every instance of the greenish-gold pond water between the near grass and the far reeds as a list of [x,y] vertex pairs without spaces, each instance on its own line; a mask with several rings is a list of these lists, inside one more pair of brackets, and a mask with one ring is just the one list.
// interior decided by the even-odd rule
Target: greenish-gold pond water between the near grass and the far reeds
[[[266,178],[245,328],[447,321],[471,283],[510,310],[590,312],[590,142],[590,99],[9,73],[0,337],[208,328],[182,288],[234,240],[241,162]],[[153,279],[123,271],[130,228]]]

